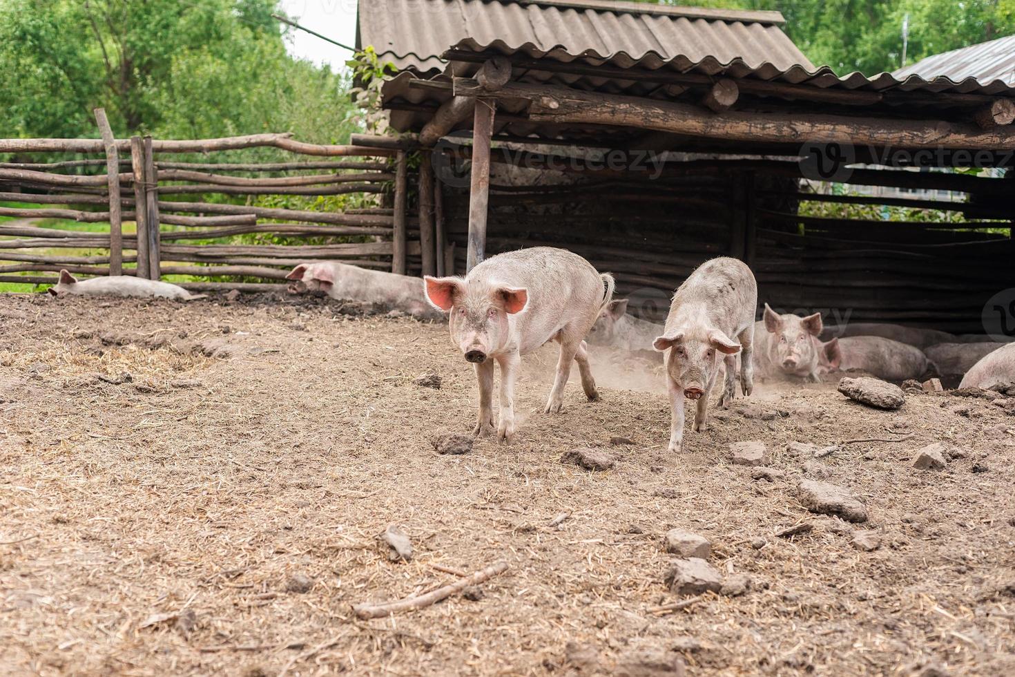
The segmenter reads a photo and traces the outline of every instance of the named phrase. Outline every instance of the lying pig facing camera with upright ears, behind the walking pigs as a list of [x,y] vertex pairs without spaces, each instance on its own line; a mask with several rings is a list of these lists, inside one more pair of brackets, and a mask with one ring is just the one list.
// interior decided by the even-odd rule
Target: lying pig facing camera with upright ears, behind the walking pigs
[[758,376],[801,377],[818,383],[822,344],[821,314],[806,318],[779,315],[764,304],[764,320],[754,325],[754,366]]

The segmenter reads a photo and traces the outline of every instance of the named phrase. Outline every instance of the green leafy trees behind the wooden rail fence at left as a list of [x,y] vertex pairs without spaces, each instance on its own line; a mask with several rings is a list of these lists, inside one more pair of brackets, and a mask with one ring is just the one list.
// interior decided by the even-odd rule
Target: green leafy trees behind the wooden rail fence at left
[[[0,0],[0,136],[343,141],[349,80],[286,54],[277,0]],[[336,48],[337,49],[337,48]]]

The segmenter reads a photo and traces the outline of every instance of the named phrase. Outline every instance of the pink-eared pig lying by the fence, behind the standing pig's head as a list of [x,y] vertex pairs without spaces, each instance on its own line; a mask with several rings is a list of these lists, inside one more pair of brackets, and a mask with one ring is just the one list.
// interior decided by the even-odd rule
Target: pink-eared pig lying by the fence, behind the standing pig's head
[[369,270],[336,261],[301,263],[285,276],[289,291],[323,291],[332,298],[378,303],[420,319],[439,317],[426,303],[418,277]]

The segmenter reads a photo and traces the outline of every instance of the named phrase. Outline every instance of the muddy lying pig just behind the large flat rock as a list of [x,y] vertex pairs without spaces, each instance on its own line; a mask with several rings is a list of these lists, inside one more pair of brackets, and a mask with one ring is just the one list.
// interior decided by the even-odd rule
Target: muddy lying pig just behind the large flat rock
[[821,353],[827,368],[862,369],[884,381],[923,379],[937,366],[924,351],[882,336],[848,336],[824,344]]

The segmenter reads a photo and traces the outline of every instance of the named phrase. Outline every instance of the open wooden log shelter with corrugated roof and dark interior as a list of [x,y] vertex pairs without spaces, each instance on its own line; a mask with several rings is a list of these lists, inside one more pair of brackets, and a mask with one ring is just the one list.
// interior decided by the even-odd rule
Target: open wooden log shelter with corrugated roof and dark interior
[[[603,0],[359,12],[358,46],[399,68],[383,97],[402,146],[434,149],[417,179],[423,272],[552,244],[657,301],[633,304],[651,316],[694,267],[730,255],[775,308],[970,332],[1015,287],[1015,172],[931,171],[1015,165],[1003,81],[838,76],[807,61],[777,12]],[[826,179],[968,199],[815,192]],[[802,215],[804,201],[962,222]]]

